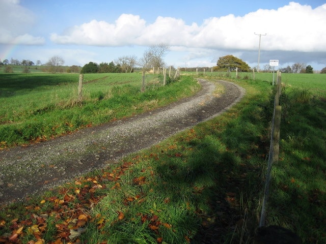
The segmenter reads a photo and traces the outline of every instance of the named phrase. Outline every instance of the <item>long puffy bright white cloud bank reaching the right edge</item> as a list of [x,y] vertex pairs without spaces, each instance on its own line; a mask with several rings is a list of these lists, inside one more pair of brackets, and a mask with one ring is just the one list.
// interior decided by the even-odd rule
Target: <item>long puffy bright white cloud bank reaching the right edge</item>
[[95,46],[148,46],[166,43],[171,46],[213,49],[256,50],[258,37],[266,50],[326,50],[326,4],[311,6],[291,2],[277,10],[259,9],[244,16],[232,14],[212,17],[201,25],[187,25],[182,19],[157,17],[146,24],[138,15],[122,14],[115,23],[92,20],[74,26],[63,35],[52,34],[58,44]]

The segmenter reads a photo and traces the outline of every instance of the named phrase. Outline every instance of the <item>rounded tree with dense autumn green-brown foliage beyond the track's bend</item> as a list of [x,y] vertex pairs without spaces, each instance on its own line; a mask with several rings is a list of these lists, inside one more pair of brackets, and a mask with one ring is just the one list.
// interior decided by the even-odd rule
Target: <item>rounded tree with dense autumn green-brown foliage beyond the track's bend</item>
[[236,68],[238,68],[240,72],[250,72],[249,65],[233,55],[219,57],[216,63],[217,70],[234,71]]

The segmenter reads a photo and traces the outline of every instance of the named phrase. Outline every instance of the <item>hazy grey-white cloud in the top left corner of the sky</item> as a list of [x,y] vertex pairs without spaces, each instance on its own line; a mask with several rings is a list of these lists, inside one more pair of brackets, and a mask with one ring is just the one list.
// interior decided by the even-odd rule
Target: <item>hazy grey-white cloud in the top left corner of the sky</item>
[[0,44],[42,45],[45,39],[26,33],[35,23],[34,14],[19,0],[3,1],[0,8]]

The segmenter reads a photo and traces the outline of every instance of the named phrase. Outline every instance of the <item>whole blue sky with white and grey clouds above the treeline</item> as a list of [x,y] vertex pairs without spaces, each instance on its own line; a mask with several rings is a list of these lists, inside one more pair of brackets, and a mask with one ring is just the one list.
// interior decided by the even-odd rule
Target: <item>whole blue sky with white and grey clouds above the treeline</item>
[[[0,0],[0,58],[65,65],[141,58],[168,45],[167,66],[213,67],[234,55],[262,69],[326,67],[326,1]],[[259,49],[260,43],[260,49]],[[260,55],[259,55],[260,50]]]

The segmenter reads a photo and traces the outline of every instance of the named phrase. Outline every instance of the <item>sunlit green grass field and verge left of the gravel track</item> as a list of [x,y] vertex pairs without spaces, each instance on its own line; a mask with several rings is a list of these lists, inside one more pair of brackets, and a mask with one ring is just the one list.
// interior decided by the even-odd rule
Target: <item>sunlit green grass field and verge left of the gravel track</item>
[[[26,144],[138,114],[193,94],[189,77],[162,86],[162,77],[87,74],[78,101],[78,74],[0,74],[0,142]],[[183,87],[188,87],[184,89]]]

